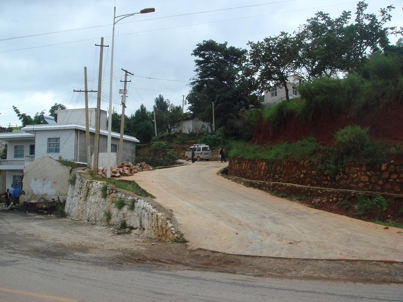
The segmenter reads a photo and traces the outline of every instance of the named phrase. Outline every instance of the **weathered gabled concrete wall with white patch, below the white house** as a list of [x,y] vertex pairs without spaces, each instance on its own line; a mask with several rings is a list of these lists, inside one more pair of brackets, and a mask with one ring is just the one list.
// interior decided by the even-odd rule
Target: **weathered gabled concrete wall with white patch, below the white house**
[[60,164],[50,157],[36,159],[24,168],[23,190],[24,200],[37,196],[47,200],[59,198],[66,200],[69,189],[70,167]]

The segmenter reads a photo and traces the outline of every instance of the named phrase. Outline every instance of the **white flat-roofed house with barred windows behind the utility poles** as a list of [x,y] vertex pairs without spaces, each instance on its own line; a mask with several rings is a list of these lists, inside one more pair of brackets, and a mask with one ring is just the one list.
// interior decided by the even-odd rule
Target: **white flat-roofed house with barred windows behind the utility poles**
[[[90,108],[90,153],[93,157],[95,138],[95,108]],[[0,160],[0,192],[14,188],[21,182],[24,168],[42,157],[87,163],[85,138],[85,109],[56,110],[57,122],[27,125],[20,132],[0,133],[0,140],[7,143],[7,158]],[[106,165],[107,135],[106,111],[101,110],[99,135],[99,167]],[[112,164],[116,165],[116,152],[120,133],[111,134]],[[122,160],[135,162],[136,137],[123,135]],[[5,172],[5,173],[2,173]]]

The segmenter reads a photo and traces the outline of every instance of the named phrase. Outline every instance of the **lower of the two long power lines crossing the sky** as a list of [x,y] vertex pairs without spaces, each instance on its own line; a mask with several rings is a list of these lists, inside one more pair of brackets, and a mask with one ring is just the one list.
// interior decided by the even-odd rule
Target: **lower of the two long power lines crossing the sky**
[[[140,33],[147,33],[147,32],[155,32],[155,31],[175,29],[175,28],[182,28],[182,27],[197,26],[197,25],[205,25],[205,24],[210,24],[210,23],[219,23],[219,22],[227,22],[227,21],[235,21],[235,20],[241,20],[241,19],[255,18],[255,17],[263,17],[263,16],[272,16],[272,15],[279,15],[279,14],[285,14],[285,13],[301,12],[301,11],[307,11],[307,10],[313,10],[313,9],[320,9],[320,8],[327,8],[327,7],[333,7],[333,6],[346,5],[346,4],[351,4],[351,3],[356,3],[356,2],[346,2],[346,3],[333,4],[333,5],[327,5],[327,6],[318,6],[318,7],[311,7],[311,8],[305,8],[305,9],[299,9],[299,10],[283,11],[283,12],[270,13],[270,14],[260,14],[260,15],[238,17],[238,18],[231,18],[231,19],[224,19],[224,20],[216,20],[216,21],[209,21],[209,22],[196,23],[196,24],[178,25],[178,26],[165,27],[165,28],[159,28],[159,29],[151,29],[151,30],[145,30],[145,31],[126,33],[126,34],[119,34],[119,35],[115,35],[115,37],[117,37],[117,36],[127,36],[127,35],[133,35],[133,34],[140,34]],[[106,36],[105,38],[111,38],[111,37],[112,36]],[[34,48],[40,48],[40,47],[63,45],[63,44],[69,44],[69,43],[78,43],[78,42],[84,42],[84,41],[97,40],[99,38],[100,37],[83,39],[83,40],[76,40],[76,41],[52,43],[52,44],[39,45],[39,46],[31,46],[31,47],[25,47],[25,48],[9,49],[9,50],[0,51],[0,53],[19,51],[19,50],[27,50],[27,49],[34,49]]]

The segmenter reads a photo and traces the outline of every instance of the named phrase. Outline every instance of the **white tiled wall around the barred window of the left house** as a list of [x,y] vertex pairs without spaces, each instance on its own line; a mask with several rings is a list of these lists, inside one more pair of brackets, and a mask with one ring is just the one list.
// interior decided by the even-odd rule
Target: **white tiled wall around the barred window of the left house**
[[[48,156],[55,160],[75,161],[75,129],[35,131],[35,159]],[[47,153],[47,138],[60,137],[60,153]]]

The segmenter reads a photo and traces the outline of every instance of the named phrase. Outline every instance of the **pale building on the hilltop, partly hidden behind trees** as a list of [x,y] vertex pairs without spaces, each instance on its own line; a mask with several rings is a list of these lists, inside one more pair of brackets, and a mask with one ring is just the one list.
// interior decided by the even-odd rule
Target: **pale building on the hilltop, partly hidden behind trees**
[[[288,96],[290,99],[299,98],[300,95],[298,93],[298,85],[302,83],[304,78],[300,77],[297,74],[291,74],[287,77],[287,88],[288,88]],[[270,107],[274,104],[277,104],[286,99],[286,89],[283,86],[277,86],[272,88],[270,91],[267,90],[264,92],[264,101],[262,105],[264,107]]]

